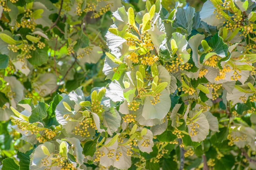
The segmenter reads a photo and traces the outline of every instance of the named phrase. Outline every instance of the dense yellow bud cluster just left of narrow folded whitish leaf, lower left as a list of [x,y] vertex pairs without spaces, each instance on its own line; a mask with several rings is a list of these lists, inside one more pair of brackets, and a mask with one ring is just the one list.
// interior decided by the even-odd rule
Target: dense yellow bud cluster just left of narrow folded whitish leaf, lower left
[[87,128],[92,128],[97,130],[95,122],[92,118],[85,118],[81,122],[79,122],[78,126],[75,126],[75,130],[72,131],[75,135],[80,135],[82,137],[89,137],[90,132],[88,132]]

